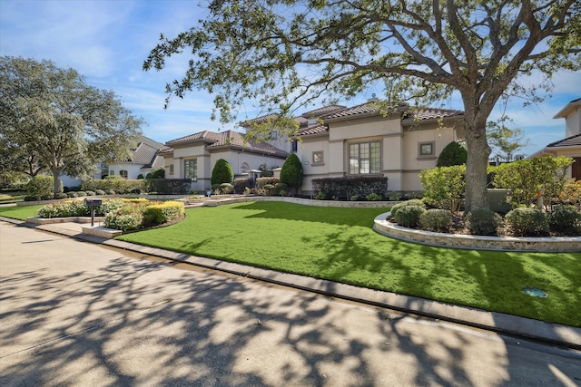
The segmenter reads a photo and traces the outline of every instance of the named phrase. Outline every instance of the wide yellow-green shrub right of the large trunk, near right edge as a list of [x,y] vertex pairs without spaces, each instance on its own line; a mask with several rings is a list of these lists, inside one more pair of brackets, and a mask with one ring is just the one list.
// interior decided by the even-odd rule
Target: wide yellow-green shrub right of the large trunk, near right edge
[[493,184],[499,189],[510,189],[509,202],[515,207],[529,207],[537,201],[537,191],[544,191],[544,203],[559,201],[559,195],[568,180],[566,169],[573,159],[564,156],[518,160],[499,165]]

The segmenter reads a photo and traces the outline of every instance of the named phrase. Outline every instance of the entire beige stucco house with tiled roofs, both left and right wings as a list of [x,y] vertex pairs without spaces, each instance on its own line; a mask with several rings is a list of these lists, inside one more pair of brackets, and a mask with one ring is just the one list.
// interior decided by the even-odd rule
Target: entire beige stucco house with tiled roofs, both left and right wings
[[[241,127],[248,131],[253,123],[273,118],[276,114],[258,117]],[[203,131],[168,141],[170,148],[158,152],[166,160],[165,177],[193,179],[192,189],[202,190],[210,187],[219,159],[242,175],[263,164],[281,166],[293,152],[303,164],[303,195],[316,194],[313,179],[361,175],[387,177],[389,191],[421,191],[419,171],[434,168],[449,142],[464,140],[463,111],[411,110],[407,104],[386,110],[377,99],[326,106],[295,120],[299,131],[291,138],[273,131],[270,140],[245,143],[237,131]]]

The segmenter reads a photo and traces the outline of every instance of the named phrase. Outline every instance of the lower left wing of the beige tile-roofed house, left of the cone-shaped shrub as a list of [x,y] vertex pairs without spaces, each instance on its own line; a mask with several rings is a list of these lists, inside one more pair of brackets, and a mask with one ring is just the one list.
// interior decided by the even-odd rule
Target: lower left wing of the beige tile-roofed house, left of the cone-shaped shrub
[[[157,152],[165,159],[165,179],[192,179],[192,189],[209,189],[216,161],[227,160],[235,175],[261,165],[279,167],[289,155],[266,142],[245,141],[238,131],[201,131],[165,143]],[[169,148],[168,148],[169,147]]]

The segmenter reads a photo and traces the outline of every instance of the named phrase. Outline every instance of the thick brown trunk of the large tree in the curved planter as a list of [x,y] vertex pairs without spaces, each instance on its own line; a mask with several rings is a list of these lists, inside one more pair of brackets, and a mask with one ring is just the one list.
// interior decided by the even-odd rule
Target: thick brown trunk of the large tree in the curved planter
[[469,125],[466,131],[466,212],[490,208],[487,197],[487,166],[491,149],[487,143],[486,123]]

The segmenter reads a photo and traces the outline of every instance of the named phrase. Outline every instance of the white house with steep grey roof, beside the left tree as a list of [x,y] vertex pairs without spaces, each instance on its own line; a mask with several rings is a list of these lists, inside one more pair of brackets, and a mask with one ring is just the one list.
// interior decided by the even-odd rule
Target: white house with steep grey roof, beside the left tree
[[140,136],[128,160],[101,165],[101,175],[95,179],[103,179],[106,176],[121,176],[123,179],[137,179],[139,175],[145,177],[149,172],[164,167],[163,156],[158,154],[159,150],[164,148],[165,145],[161,142]]

